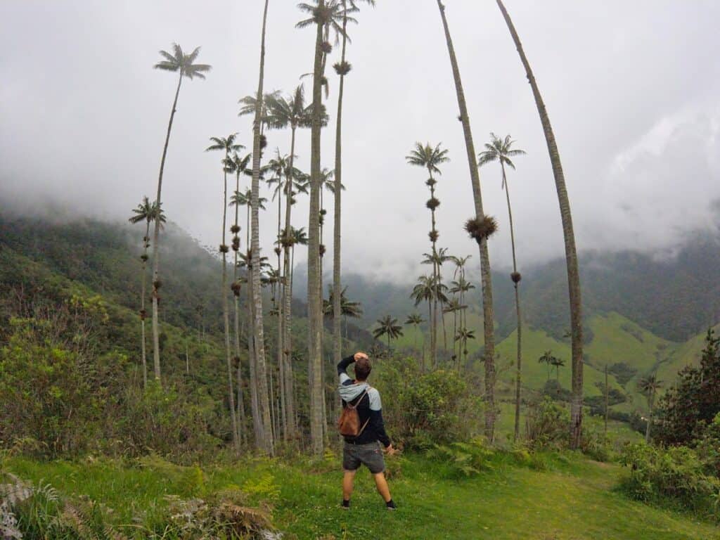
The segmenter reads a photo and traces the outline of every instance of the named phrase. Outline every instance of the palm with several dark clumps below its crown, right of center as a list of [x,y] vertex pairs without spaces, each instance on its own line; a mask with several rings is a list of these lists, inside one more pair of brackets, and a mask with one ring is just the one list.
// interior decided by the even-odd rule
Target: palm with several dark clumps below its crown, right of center
[[[426,202],[426,207],[428,207],[428,210],[430,210],[431,214],[431,230],[430,233],[428,233],[428,236],[430,237],[430,241],[433,246],[433,261],[434,257],[436,256],[437,249],[437,241],[440,234],[438,233],[438,230],[436,228],[436,219],[435,219],[435,211],[437,210],[438,206],[440,206],[440,201],[436,199],[435,197],[435,186],[437,184],[436,179],[433,177],[434,174],[442,174],[440,171],[440,168],[438,167],[441,163],[446,163],[446,161],[450,161],[450,159],[447,157],[448,150],[442,150],[440,148],[440,145],[436,145],[434,148],[430,145],[430,143],[426,143],[426,145],[422,145],[421,143],[415,143],[415,148],[410,150],[410,153],[408,156],[405,156],[405,160],[410,163],[410,165],[415,165],[418,167],[426,168],[428,171],[428,174],[430,177],[426,181],[426,186],[430,189],[430,199],[428,199],[428,202]],[[437,276],[440,274],[440,269],[436,266],[436,264],[433,262],[433,283],[437,284],[439,282],[439,279],[437,279]],[[435,295],[437,298],[437,294]],[[431,348],[431,361],[433,366],[437,365],[438,361],[438,338],[437,338],[437,332],[438,332],[438,313],[437,313],[437,304],[435,305],[435,309],[431,312],[431,331],[430,331],[430,348]]]

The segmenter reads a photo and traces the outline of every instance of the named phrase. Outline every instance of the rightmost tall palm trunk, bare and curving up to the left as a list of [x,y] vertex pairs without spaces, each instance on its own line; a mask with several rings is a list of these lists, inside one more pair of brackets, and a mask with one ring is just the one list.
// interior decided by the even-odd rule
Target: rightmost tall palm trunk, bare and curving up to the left
[[497,0],[500,11],[503,12],[508,30],[513,37],[515,46],[520,55],[520,60],[525,67],[525,72],[530,82],[535,104],[540,115],[547,149],[552,163],[552,172],[555,177],[555,188],[560,206],[560,217],[562,218],[562,232],[565,239],[565,259],[567,263],[567,288],[570,296],[570,330],[572,333],[572,398],[570,401],[570,445],[572,448],[580,446],[580,435],[582,434],[582,300],[580,298],[580,271],[577,264],[577,249],[575,248],[575,233],[572,228],[572,214],[570,212],[570,200],[567,198],[565,188],[565,177],[562,172],[562,163],[555,142],[555,135],[550,125],[550,118],[545,109],[542,96],[538,89],[535,76],[530,68],[530,63],[525,56],[523,45],[513,26],[508,11],[505,9],[502,0]]

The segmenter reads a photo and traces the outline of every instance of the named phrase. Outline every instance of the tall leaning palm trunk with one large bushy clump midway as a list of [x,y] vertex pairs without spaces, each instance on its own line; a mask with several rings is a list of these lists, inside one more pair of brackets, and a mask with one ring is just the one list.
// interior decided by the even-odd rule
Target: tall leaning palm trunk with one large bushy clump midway
[[[438,0],[438,8],[443,19],[445,39],[447,41],[450,63],[453,77],[455,79],[455,90],[457,103],[460,109],[460,120],[465,138],[465,149],[467,150],[467,162],[470,168],[470,180],[472,181],[472,195],[475,203],[475,217],[482,220],[485,211],[482,208],[482,191],[480,189],[480,174],[477,171],[475,157],[475,146],[472,142],[472,131],[470,130],[470,117],[467,114],[465,94],[462,89],[460,70],[455,57],[455,49],[452,45],[448,22],[445,17],[445,6]],[[495,439],[495,318],[492,310],[492,278],[490,276],[490,255],[487,253],[487,238],[480,240],[480,276],[482,279],[482,318],[485,335],[485,436],[492,442]]]

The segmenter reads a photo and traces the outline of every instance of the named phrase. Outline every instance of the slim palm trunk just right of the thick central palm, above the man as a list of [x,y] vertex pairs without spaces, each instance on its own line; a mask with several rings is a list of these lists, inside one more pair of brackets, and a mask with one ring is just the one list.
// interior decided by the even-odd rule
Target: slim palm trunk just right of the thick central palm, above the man
[[339,364],[343,359],[343,336],[341,334],[341,202],[342,202],[342,122],[343,122],[343,90],[345,88],[345,50],[348,42],[347,2],[343,0],[343,52],[341,55],[340,88],[338,89],[338,117],[335,129],[335,211],[333,215],[333,362]]

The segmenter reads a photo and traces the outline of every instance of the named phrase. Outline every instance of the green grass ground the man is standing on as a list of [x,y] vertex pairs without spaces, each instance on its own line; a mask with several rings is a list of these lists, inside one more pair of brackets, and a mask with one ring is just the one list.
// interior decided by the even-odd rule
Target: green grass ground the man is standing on
[[[528,465],[496,454],[472,478],[449,476],[424,456],[395,461],[390,480],[399,505],[384,509],[365,470],[358,474],[351,510],[339,508],[338,459],[310,464],[243,460],[231,467],[145,466],[96,461],[39,463],[13,458],[4,468],[49,482],[65,495],[88,495],[114,509],[117,523],[158,511],[163,496],[204,497],[239,486],[252,503],[269,500],[276,526],[297,539],[717,539],[720,528],[670,510],[627,499],[614,489],[620,467],[575,454],[539,454]],[[541,469],[541,470],[537,470]],[[330,536],[332,535],[332,536]]]

